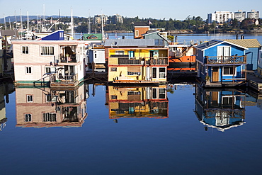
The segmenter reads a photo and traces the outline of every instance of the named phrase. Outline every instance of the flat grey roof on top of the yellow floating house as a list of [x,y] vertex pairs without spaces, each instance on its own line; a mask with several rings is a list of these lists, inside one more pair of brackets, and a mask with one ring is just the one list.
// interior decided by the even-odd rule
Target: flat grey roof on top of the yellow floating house
[[117,40],[117,39],[109,39],[105,41],[105,47],[113,47],[113,46],[129,46],[129,47],[142,47],[142,46],[164,46],[159,45],[159,40],[154,39],[125,39],[125,40]]

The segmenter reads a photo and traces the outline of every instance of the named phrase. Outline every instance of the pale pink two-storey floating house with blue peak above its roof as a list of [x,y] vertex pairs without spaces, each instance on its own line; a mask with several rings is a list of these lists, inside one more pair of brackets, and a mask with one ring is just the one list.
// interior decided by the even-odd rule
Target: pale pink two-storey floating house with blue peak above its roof
[[40,40],[12,40],[16,85],[74,87],[86,73],[86,45],[58,30]]

